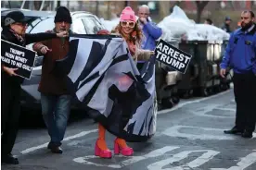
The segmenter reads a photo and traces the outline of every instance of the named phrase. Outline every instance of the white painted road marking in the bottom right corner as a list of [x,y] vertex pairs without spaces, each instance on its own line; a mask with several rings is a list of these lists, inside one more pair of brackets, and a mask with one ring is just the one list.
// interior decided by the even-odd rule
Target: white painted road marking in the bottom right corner
[[237,166],[232,166],[230,168],[211,168],[211,170],[244,170],[251,164],[256,163],[256,152],[252,152],[246,157],[241,158],[241,161],[237,163]]

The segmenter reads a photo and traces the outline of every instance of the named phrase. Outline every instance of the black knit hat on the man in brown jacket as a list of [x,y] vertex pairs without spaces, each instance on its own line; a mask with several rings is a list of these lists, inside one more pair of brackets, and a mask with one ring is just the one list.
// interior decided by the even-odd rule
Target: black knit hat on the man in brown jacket
[[70,16],[70,10],[65,6],[59,6],[57,9],[56,16],[54,18],[54,22],[68,22],[72,23],[72,18]]

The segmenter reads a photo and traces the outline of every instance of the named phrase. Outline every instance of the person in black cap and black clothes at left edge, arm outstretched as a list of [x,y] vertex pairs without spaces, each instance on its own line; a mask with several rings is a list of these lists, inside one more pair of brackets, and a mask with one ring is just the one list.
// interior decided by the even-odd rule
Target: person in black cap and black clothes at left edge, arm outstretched
[[[41,42],[57,37],[67,37],[68,32],[26,34],[27,19],[20,11],[13,11],[6,15],[1,38],[20,46],[32,42]],[[19,99],[20,84],[23,79],[15,71],[18,68],[6,66],[1,62],[1,162],[19,164],[17,158],[11,154],[19,129]]]

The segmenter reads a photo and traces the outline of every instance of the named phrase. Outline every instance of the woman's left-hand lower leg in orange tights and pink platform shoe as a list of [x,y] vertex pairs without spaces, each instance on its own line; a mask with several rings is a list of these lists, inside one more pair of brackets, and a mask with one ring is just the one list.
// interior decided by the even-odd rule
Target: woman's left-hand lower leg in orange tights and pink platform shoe
[[98,124],[98,139],[96,140],[95,155],[101,158],[111,158],[112,152],[107,147],[105,132],[106,129]]

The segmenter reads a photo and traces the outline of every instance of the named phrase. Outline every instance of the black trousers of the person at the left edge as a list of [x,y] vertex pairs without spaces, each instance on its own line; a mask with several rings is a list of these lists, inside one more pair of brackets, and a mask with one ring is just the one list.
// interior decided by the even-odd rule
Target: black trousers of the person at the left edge
[[20,85],[1,79],[1,155],[11,153],[19,130]]

